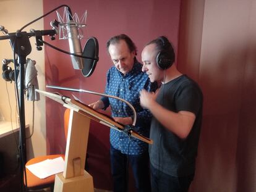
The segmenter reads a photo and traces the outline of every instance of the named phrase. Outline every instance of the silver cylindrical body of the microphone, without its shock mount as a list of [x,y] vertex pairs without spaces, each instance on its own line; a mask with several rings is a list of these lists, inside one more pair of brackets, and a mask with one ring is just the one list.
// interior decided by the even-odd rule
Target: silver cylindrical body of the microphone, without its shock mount
[[[79,32],[75,21],[69,17],[67,23],[67,36],[69,38],[69,50],[73,54],[82,56],[82,48],[79,40]],[[82,57],[76,57],[71,55],[71,61],[74,69],[83,69]]]

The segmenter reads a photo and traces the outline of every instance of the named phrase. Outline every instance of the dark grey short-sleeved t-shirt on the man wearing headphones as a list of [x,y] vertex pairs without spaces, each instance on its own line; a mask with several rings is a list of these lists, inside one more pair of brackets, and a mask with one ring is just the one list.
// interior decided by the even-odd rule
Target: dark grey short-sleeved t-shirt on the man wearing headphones
[[153,117],[150,138],[154,143],[149,146],[150,163],[173,177],[194,174],[202,122],[203,95],[199,86],[186,75],[181,75],[161,86],[156,101],[173,112],[193,112],[196,118],[189,135],[182,140]]

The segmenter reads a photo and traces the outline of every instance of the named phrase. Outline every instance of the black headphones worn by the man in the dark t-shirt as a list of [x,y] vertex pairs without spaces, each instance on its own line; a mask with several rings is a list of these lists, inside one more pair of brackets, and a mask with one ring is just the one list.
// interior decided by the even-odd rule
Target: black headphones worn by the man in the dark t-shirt
[[174,49],[165,36],[160,36],[157,40],[160,52],[156,55],[156,64],[160,69],[165,70],[171,67],[175,61]]

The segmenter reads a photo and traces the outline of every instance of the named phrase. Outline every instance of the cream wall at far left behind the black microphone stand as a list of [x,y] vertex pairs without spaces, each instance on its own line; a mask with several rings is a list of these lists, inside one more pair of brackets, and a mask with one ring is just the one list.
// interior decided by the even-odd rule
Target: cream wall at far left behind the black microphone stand
[[[0,25],[4,26],[9,33],[19,30],[23,25],[31,22],[43,15],[43,0],[22,0],[22,1],[0,1]],[[33,28],[35,30],[43,30],[43,19],[25,28],[23,31],[29,32]],[[0,33],[0,36],[3,36]],[[40,90],[45,90],[45,52],[37,51],[35,47],[35,38],[30,38],[32,52],[27,58],[36,61],[36,69],[38,70],[38,83]],[[12,49],[9,40],[0,41],[0,60],[12,59]],[[14,64],[10,64],[14,69]],[[0,109],[6,120],[15,121],[15,93],[14,83],[6,82],[0,79]],[[7,90],[9,95],[7,94]],[[11,108],[9,105],[11,102]],[[11,115],[12,113],[12,115]],[[33,104],[32,101],[25,101],[25,121],[30,125],[32,132],[33,122]],[[30,133],[27,133],[29,136]],[[45,98],[41,97],[40,101],[35,101],[35,128],[32,139],[27,140],[27,158],[46,154],[46,128],[45,128]]]

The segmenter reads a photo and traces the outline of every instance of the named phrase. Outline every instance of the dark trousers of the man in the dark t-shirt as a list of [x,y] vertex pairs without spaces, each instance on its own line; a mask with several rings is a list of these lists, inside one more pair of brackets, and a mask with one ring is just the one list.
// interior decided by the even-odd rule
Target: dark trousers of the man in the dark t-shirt
[[189,191],[189,185],[192,182],[194,175],[187,177],[172,177],[166,173],[155,169],[150,164],[151,172],[151,191],[152,192],[187,192]]

